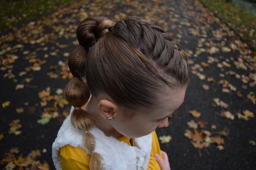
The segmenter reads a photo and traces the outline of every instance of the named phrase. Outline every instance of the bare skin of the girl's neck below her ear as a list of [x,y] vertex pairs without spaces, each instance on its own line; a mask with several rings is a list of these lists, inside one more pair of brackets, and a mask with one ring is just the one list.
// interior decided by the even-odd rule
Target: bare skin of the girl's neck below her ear
[[83,110],[88,112],[96,120],[96,127],[99,128],[106,136],[112,136],[115,138],[122,137],[121,133],[117,132],[114,127],[109,123],[110,120],[104,119],[98,110],[98,100],[95,96],[91,96],[90,100],[83,107]]

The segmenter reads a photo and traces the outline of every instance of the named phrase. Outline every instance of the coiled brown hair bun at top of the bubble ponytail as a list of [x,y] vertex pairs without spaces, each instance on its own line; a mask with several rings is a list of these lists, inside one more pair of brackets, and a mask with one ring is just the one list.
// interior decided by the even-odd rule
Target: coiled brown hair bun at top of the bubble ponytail
[[85,48],[92,47],[115,22],[106,17],[88,17],[83,20],[76,30],[76,36],[80,45]]

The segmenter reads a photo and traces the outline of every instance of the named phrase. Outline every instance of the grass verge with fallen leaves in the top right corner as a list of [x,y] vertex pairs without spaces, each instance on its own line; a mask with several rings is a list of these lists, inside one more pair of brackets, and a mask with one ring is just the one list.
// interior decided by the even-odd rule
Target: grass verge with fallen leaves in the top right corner
[[223,22],[229,25],[255,50],[256,44],[256,17],[243,8],[225,0],[200,0]]

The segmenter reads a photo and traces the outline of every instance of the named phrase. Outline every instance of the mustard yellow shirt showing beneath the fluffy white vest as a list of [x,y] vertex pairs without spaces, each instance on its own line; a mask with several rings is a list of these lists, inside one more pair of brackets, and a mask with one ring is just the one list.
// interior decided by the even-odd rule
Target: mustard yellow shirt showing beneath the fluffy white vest
[[[117,138],[119,141],[123,141],[131,146],[129,137],[120,137]],[[160,169],[159,164],[156,162],[154,155],[158,153],[162,156],[160,152],[159,141],[156,136],[156,132],[152,132],[152,148],[150,153],[149,167],[147,169],[156,170]],[[163,156],[162,156],[163,157]],[[66,145],[60,148],[60,159],[61,159],[61,168],[65,169],[90,169],[89,162],[91,156],[86,154],[85,150],[81,148],[75,148],[70,145]]]

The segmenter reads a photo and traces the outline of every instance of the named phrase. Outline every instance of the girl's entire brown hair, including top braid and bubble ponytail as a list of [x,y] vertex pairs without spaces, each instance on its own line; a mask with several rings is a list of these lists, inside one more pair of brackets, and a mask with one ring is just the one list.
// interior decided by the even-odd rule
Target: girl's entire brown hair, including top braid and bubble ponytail
[[80,45],[72,50],[68,66],[73,75],[65,89],[75,107],[72,125],[85,132],[83,143],[91,155],[90,169],[102,169],[89,132],[95,119],[81,107],[90,95],[107,94],[117,105],[136,110],[154,109],[163,86],[188,84],[188,60],[178,43],[162,28],[140,18],[113,22],[88,17],[77,28]]

